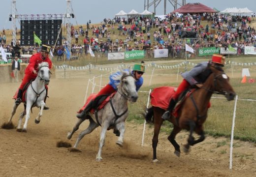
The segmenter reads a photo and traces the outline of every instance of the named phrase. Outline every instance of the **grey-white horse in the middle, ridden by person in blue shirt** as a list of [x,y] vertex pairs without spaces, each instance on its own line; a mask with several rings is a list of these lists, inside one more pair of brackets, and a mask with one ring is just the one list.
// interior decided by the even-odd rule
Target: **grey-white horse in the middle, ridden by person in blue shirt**
[[[87,118],[90,120],[90,124],[87,129],[82,131],[75,145],[74,149],[77,148],[80,140],[86,135],[91,133],[99,125],[101,125],[99,149],[96,155],[96,160],[101,161],[101,150],[105,143],[106,131],[108,129],[116,129],[120,131],[120,136],[116,144],[123,146],[123,139],[125,133],[125,120],[128,117],[128,101],[136,102],[138,98],[138,93],[136,91],[135,79],[133,76],[125,71],[122,71],[122,75],[117,76],[116,80],[120,80],[118,86],[118,91],[112,97],[112,99],[105,105],[105,107],[99,111],[96,111],[95,114],[90,112],[87,114]],[[78,130],[79,125],[86,118],[80,118],[76,122],[73,130],[67,133],[67,139],[71,139],[73,133]]]

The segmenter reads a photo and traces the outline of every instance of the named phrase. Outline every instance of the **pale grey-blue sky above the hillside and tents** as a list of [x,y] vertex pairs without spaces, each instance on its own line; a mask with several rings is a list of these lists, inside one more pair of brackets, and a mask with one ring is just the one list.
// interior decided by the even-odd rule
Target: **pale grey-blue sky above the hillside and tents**
[[[149,0],[152,2],[153,0]],[[172,4],[166,0],[166,13],[174,10]],[[11,29],[12,22],[9,21],[12,0],[1,0],[0,8],[0,30]],[[182,3],[182,0],[178,0]],[[256,12],[256,0],[187,0],[187,3],[200,2],[208,7],[224,10],[228,7],[244,8]],[[147,0],[146,0],[147,3]],[[144,11],[144,0],[71,0],[72,10],[75,18],[71,19],[73,25],[86,24],[89,20],[100,23],[104,18],[114,18],[120,10],[130,12],[132,9],[141,13]],[[161,0],[156,8],[156,15],[163,15],[164,0]],[[180,6],[178,5],[178,8]],[[66,0],[16,0],[17,14],[65,14]],[[149,7],[154,12],[154,5]],[[20,29],[17,21],[16,26]]]

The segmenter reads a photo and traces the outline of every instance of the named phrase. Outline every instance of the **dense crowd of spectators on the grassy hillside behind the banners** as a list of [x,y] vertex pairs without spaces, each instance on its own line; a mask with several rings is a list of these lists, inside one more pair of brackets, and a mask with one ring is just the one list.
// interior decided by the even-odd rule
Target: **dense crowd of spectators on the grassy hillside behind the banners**
[[[255,29],[250,26],[253,18],[219,13],[177,17],[169,13],[165,19],[116,17],[104,19],[100,25],[91,25],[90,21],[86,29],[71,26],[71,38],[75,41],[71,45],[71,53],[78,57],[88,55],[91,47],[93,52],[101,56],[107,56],[109,52],[132,50],[145,50],[150,56],[154,49],[168,49],[169,56],[175,58],[184,57],[186,42],[195,51],[200,47],[227,47],[230,44],[238,48],[237,55],[240,55],[245,46],[256,47]],[[207,25],[202,25],[202,20],[207,20]],[[184,39],[183,31],[193,31],[194,38]],[[63,46],[55,47],[53,54],[58,56],[58,60],[62,59],[66,44],[64,40]],[[23,54],[31,54],[31,51],[32,47],[22,47]]]

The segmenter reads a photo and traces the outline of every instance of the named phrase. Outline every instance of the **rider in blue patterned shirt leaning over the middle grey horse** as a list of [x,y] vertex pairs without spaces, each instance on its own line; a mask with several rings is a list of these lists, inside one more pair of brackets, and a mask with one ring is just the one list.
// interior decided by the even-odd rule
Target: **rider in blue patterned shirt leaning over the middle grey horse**
[[[129,72],[129,69],[124,69],[124,70]],[[133,75],[134,79],[136,80],[135,81],[136,91],[138,91],[143,84],[142,75],[144,74],[144,72],[145,72],[144,61],[141,61],[141,63],[134,64],[131,74]],[[110,82],[97,93],[96,97],[99,95],[104,95],[104,94],[110,95],[111,93],[115,92],[117,90],[117,86],[119,85],[120,81],[114,80],[113,78],[115,78],[116,75],[121,75],[121,74],[122,73],[120,71],[111,74],[109,76]],[[91,111],[91,109],[93,107],[93,102],[94,102],[94,100],[91,100],[91,102],[88,103],[87,106],[86,106],[86,104],[84,104],[84,106],[80,109],[82,111],[80,111],[80,113],[77,114],[76,117],[77,118],[85,118],[86,114],[89,111]]]

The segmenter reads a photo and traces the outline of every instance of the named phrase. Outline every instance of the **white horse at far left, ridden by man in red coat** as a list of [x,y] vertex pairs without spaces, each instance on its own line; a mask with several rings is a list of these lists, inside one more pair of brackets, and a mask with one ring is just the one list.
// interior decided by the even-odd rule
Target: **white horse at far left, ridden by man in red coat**
[[[50,82],[51,71],[49,69],[48,62],[42,62],[38,65],[38,74],[34,81],[29,85],[27,92],[25,93],[26,102],[24,103],[24,111],[20,114],[17,131],[27,132],[28,121],[30,119],[30,111],[32,107],[40,108],[38,116],[35,118],[35,123],[40,122],[40,117],[43,115],[43,109],[45,106],[44,98],[46,96],[45,85]],[[8,120],[8,124],[11,123],[12,117],[16,113],[18,105],[14,103],[11,118]],[[22,118],[26,115],[26,120],[21,129]]]

